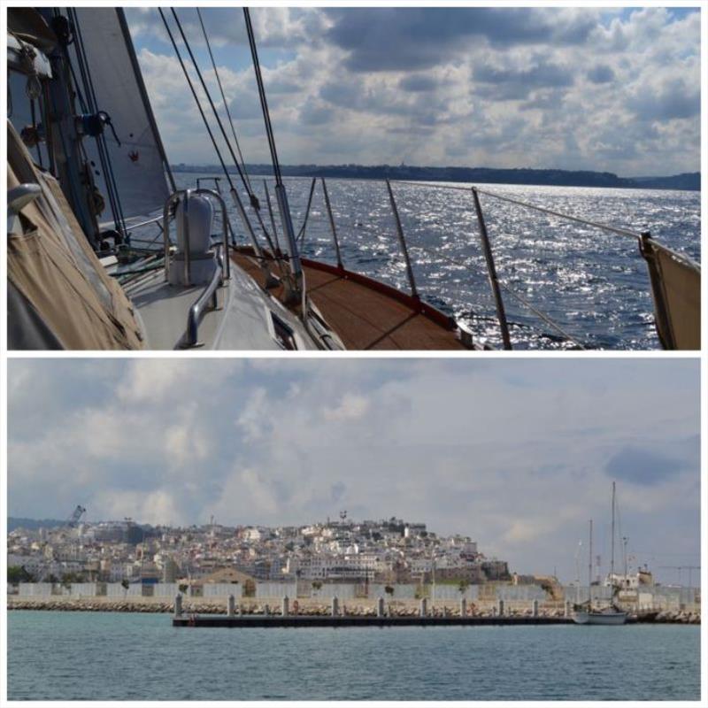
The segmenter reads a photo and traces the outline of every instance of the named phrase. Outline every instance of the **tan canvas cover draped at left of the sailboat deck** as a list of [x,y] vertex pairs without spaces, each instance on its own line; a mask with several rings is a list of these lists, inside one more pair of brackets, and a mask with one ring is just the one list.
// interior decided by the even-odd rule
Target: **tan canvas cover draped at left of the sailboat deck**
[[142,349],[130,301],[104,272],[58,182],[32,162],[7,121],[7,187],[35,183],[42,194],[8,235],[10,349]]

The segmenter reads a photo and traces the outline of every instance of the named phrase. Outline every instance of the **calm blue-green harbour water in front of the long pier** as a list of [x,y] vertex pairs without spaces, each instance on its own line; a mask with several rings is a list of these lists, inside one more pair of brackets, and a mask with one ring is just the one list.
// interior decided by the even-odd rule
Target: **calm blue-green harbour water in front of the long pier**
[[8,612],[12,700],[698,700],[700,629],[173,628]]

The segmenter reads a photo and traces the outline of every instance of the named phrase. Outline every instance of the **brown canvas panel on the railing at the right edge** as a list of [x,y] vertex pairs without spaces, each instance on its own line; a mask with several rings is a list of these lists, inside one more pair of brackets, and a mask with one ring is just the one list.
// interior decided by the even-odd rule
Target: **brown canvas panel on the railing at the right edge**
[[645,239],[658,336],[665,349],[701,348],[701,271],[688,258]]

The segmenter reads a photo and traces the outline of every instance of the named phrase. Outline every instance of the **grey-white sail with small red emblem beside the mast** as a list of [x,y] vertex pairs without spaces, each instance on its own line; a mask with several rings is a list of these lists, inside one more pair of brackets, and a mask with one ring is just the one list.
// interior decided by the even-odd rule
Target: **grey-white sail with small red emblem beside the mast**
[[[169,196],[168,172],[165,173],[169,166],[125,15],[120,8],[108,7],[77,7],[74,12],[81,29],[97,110],[111,117],[120,142],[116,141],[111,128],[105,127],[105,142],[123,215],[126,219],[146,216],[162,209]],[[89,138],[84,140],[84,145],[94,164],[96,186],[105,196],[96,141]],[[100,219],[107,221],[112,217],[110,204],[106,203]]]

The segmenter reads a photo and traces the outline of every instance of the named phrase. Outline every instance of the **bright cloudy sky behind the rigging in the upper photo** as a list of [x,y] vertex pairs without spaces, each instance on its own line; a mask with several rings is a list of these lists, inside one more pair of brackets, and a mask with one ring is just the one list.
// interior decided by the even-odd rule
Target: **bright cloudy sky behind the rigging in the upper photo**
[[[196,11],[179,11],[219,96]],[[244,156],[266,162],[242,12],[206,8]],[[252,11],[283,164],[699,169],[700,15],[679,8]],[[216,163],[156,9],[127,18],[173,162]]]

